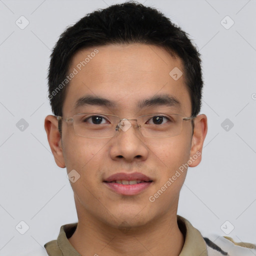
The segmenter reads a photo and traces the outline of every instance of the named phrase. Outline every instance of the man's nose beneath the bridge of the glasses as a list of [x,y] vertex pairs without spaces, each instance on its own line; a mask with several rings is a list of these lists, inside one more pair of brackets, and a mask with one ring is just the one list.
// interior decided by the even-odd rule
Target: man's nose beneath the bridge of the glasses
[[110,157],[112,160],[132,162],[147,158],[148,148],[138,128],[136,119],[120,120],[115,128],[116,131],[118,130],[117,134],[111,139]]

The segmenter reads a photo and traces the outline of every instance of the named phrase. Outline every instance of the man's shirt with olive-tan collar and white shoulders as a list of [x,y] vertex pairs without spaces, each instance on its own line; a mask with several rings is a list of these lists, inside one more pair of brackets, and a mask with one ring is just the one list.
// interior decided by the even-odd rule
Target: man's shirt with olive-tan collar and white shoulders
[[[184,245],[179,256],[253,256],[256,255],[256,246],[252,243],[235,243],[231,237],[210,235],[203,237],[191,223],[177,215],[177,223],[184,236]],[[44,244],[46,251],[33,256],[81,256],[68,241],[77,226],[77,222],[60,227],[56,240]],[[157,256],[157,255],[156,255]]]

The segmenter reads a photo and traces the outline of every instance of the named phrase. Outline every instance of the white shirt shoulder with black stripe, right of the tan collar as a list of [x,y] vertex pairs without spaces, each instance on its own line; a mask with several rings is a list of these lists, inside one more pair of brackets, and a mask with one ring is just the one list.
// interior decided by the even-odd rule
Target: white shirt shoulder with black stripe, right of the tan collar
[[251,256],[256,255],[256,245],[248,242],[235,241],[229,236],[210,234],[203,236],[207,245],[208,256]]

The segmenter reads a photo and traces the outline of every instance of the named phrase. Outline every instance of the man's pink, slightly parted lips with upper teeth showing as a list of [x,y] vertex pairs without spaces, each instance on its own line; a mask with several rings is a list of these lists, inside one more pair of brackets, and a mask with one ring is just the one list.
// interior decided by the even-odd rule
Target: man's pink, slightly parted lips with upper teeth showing
[[[111,182],[111,181],[120,180],[120,179],[122,180],[140,179],[146,182],[141,182],[136,184],[119,184],[119,183]],[[134,173],[119,172],[103,180],[103,183],[106,186],[108,186],[111,190],[115,191],[116,193],[123,194],[123,195],[135,195],[140,193],[147,187],[149,187],[152,184],[152,179],[140,172],[134,172]]]

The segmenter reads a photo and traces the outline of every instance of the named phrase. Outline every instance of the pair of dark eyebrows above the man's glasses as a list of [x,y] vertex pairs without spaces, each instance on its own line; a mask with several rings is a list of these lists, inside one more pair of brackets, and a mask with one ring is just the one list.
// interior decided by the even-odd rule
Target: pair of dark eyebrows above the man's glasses
[[[98,106],[106,106],[109,108],[113,108],[116,106],[116,103],[107,98],[102,98],[99,96],[83,96],[76,100],[74,109],[86,106],[86,105],[98,105]],[[151,106],[180,106],[180,102],[175,96],[170,96],[168,94],[154,95],[150,98],[143,99],[139,101],[138,108],[151,107]]]

